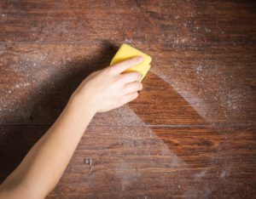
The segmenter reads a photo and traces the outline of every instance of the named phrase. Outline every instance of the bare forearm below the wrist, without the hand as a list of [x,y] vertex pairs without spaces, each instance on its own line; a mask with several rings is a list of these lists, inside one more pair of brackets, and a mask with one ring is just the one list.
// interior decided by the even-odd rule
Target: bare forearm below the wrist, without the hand
[[29,190],[29,194],[45,196],[61,178],[94,115],[95,111],[86,105],[86,100],[72,97],[61,116],[27,153],[3,186],[10,190],[18,187]]

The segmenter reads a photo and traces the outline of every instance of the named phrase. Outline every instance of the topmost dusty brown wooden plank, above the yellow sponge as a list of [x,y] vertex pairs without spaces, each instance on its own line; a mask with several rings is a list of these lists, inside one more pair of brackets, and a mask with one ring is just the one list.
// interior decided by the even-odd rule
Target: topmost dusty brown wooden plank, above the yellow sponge
[[255,7],[250,1],[2,1],[0,41],[255,43]]

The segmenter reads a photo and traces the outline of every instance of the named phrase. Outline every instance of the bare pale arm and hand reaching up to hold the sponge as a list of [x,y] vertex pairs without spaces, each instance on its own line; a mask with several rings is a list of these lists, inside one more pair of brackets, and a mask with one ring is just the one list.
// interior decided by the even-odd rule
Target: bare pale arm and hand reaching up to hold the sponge
[[33,145],[15,171],[0,186],[0,198],[44,198],[61,179],[90,120],[136,99],[143,88],[141,74],[123,73],[142,57],[108,66],[86,77],[70,97],[60,117]]

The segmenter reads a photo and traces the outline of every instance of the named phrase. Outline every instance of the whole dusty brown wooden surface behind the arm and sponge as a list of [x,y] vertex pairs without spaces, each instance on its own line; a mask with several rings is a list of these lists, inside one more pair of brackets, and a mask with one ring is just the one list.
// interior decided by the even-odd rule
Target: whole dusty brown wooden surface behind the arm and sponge
[[94,117],[48,198],[254,198],[255,21],[253,1],[1,1],[1,181],[130,43],[153,57],[140,97]]

